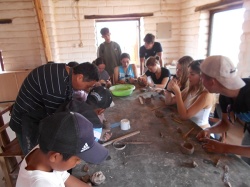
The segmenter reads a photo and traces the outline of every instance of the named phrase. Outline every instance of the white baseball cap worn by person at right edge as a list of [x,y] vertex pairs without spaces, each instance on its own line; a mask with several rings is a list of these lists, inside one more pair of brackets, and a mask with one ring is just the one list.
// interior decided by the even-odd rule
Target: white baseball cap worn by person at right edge
[[200,65],[202,73],[215,78],[230,90],[245,86],[245,82],[237,74],[237,69],[228,57],[209,56]]

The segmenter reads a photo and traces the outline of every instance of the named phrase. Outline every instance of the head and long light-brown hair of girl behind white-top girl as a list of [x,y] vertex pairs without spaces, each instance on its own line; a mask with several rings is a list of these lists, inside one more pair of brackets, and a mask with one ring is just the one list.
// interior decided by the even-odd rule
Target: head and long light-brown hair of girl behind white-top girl
[[172,79],[176,79],[176,83],[180,90],[184,90],[188,86],[188,65],[193,61],[190,56],[181,57],[176,64],[176,74]]

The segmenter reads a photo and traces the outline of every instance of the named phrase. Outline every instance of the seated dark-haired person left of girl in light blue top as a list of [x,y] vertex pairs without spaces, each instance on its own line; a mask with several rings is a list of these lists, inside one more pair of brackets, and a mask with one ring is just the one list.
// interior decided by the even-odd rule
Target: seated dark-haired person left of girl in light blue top
[[110,82],[110,76],[108,72],[105,70],[106,68],[105,60],[101,57],[98,57],[92,63],[97,66],[98,71],[99,71],[99,82],[97,82],[95,85],[96,86],[102,85],[102,86],[106,86],[107,88],[109,88],[112,84]]

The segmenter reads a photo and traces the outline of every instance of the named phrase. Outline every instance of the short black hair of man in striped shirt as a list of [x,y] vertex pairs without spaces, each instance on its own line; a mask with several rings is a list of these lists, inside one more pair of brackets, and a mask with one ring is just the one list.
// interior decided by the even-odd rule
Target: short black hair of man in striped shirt
[[99,73],[96,65],[91,64],[90,62],[81,63],[73,67],[74,74],[82,74],[84,79],[82,81],[99,81]]

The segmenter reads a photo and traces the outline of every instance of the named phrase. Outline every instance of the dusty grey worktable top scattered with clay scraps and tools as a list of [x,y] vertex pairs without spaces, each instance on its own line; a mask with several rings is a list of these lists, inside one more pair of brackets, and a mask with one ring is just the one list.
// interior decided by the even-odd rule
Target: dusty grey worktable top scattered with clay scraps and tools
[[[141,104],[138,97],[152,97],[150,104]],[[113,97],[115,106],[105,111],[106,119],[117,123],[121,119],[130,120],[131,128],[123,131],[120,127],[112,128],[112,139],[140,131],[129,137],[127,142],[152,142],[151,144],[127,144],[123,150],[116,150],[113,145],[109,149],[111,159],[100,165],[88,164],[89,171],[84,172],[84,162],[73,169],[77,177],[102,171],[106,176],[100,187],[169,187],[169,186],[225,186],[223,183],[224,167],[229,167],[228,177],[232,186],[250,186],[250,167],[235,155],[224,155],[205,152],[196,140],[201,130],[193,122],[187,120],[181,124],[172,120],[171,115],[176,108],[167,107],[160,99],[163,96],[156,92],[140,92],[136,89],[128,97]],[[155,108],[164,113],[164,118],[155,116]],[[185,134],[194,130],[186,139],[177,132],[180,128]],[[184,141],[194,145],[192,155],[183,154],[180,144]],[[217,161],[219,162],[217,163]],[[192,167],[192,162],[197,167]]]

